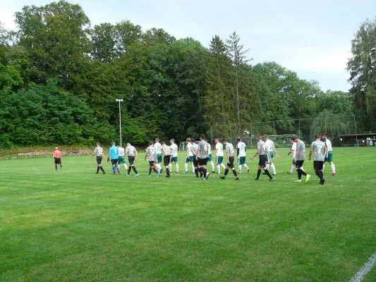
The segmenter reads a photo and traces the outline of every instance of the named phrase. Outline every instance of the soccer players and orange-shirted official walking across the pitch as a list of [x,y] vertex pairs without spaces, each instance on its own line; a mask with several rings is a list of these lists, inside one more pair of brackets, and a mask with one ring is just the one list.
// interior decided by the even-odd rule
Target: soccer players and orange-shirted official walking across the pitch
[[[325,161],[329,162],[332,168],[333,176],[336,175],[336,171],[333,163],[332,142],[328,140],[327,135],[322,135],[322,140],[323,141],[321,141],[320,135],[315,135],[315,141],[311,144],[310,147],[309,160],[311,159],[311,156],[313,154],[313,166],[315,174],[318,178],[320,178],[320,184],[324,185]],[[204,134],[200,135],[200,141],[198,143],[195,142],[194,138],[187,138],[186,142],[187,154],[184,162],[185,170],[183,171],[183,173],[188,173],[188,164],[190,163],[192,166],[192,173],[195,174],[195,177],[207,180],[210,176],[210,172],[207,171],[207,163],[210,163],[212,167],[212,173],[215,173],[215,166],[212,158],[212,148],[210,143],[207,142],[207,138]],[[290,142],[291,149],[288,155],[292,154],[293,163],[291,170],[287,173],[292,174],[293,171],[297,171],[298,180],[296,180],[295,182],[302,182],[302,176],[305,176],[305,182],[308,182],[308,180],[310,180],[310,175],[305,173],[303,168],[303,163],[305,161],[305,144],[296,135],[293,135],[293,137],[291,137]],[[162,162],[166,169],[166,178],[171,178],[172,163],[175,164],[176,173],[179,172],[178,146],[175,144],[174,139],[171,139],[170,143],[171,145],[166,145],[166,142],[162,142],[161,144],[158,137],[155,139],[155,142],[149,142],[149,147],[147,147],[147,149],[145,150],[145,160],[147,159],[147,161],[149,162],[149,173],[147,175],[148,177],[151,176],[152,171],[156,173],[157,177],[161,175],[162,171],[164,170],[164,168],[162,168],[161,166]],[[107,162],[111,161],[113,174],[116,175],[116,172],[120,174],[120,166],[124,166],[127,176],[130,175],[132,169],[135,173],[135,176],[139,176],[134,164],[138,158],[137,149],[135,149],[135,147],[133,147],[129,142],[127,143],[126,149],[123,149],[123,147],[121,147],[120,145],[116,146],[115,142],[112,142],[111,145],[112,146],[109,148],[109,157],[107,158]],[[248,173],[250,173],[250,168],[247,164],[245,164],[246,145],[240,137],[238,138],[238,144],[236,145],[236,148],[238,159],[238,173],[242,173],[243,166],[248,171]],[[223,164],[224,149],[226,150],[226,166]],[[277,150],[274,147],[274,142],[272,142],[272,140],[269,140],[268,135],[257,137],[257,151],[250,159],[254,159],[257,155],[259,156],[259,162],[257,166],[257,177],[255,178],[255,180],[259,180],[262,173],[268,176],[270,181],[274,181],[273,176],[277,176],[277,171],[274,166],[273,158],[275,156],[278,159],[279,155],[277,154]],[[102,167],[102,159],[106,159],[106,157],[104,156],[104,149],[100,146],[100,142],[97,142],[97,147],[95,148],[94,153],[91,157],[94,156],[96,156],[97,159],[97,173],[99,173],[100,170],[104,174],[105,171]],[[126,164],[126,156],[128,156],[129,167]],[[57,147],[55,148],[54,152],[54,161],[56,171],[58,165],[62,170],[63,167],[61,165],[61,152]],[[227,174],[231,170],[234,174],[235,180],[239,180],[239,176],[234,165],[234,145],[229,143],[228,140],[224,139],[221,143],[218,138],[215,139],[215,161],[218,174],[221,174],[221,168],[224,169],[224,175],[220,176],[221,179],[226,179]],[[269,168],[272,168],[272,174],[269,172]]]

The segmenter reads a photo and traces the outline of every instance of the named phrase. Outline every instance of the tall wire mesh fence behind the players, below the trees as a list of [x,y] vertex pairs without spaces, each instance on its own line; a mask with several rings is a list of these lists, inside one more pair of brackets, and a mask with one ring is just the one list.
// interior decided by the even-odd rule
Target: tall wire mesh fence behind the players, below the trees
[[211,125],[210,141],[224,140],[236,144],[241,137],[248,147],[255,147],[258,135],[269,135],[276,147],[290,147],[291,135],[298,135],[301,140],[310,144],[315,134],[327,134],[334,145],[340,144],[340,135],[355,134],[358,142],[356,116],[330,116],[323,118],[298,118],[284,121],[255,121],[252,123],[235,123],[227,125]]

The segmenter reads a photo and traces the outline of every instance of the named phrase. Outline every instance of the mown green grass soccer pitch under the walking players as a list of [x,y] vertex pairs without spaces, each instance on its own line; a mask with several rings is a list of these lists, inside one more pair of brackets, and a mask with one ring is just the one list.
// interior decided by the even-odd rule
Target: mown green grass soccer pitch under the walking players
[[376,149],[334,148],[325,185],[313,161],[293,183],[279,154],[273,183],[256,160],[238,182],[147,178],[143,154],[138,178],[88,156],[0,161],[0,281],[349,281],[376,252]]

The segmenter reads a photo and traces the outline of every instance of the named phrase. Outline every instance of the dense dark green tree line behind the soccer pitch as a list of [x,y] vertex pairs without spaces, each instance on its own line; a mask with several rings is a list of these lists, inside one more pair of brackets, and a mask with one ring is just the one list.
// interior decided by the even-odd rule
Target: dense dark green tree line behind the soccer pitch
[[1,147],[117,140],[115,99],[123,99],[123,140],[135,144],[155,136],[185,140],[208,133],[211,124],[322,113],[356,113],[360,128],[376,126],[368,121],[376,112],[375,87],[368,87],[375,86],[376,54],[363,56],[376,47],[376,21],[362,25],[353,41],[353,53],[363,55],[348,62],[348,93],[323,92],[278,63],[251,65],[236,32],[214,35],[205,48],[128,20],[92,26],[79,5],[66,1],[25,6],[15,21],[17,30],[0,25]]

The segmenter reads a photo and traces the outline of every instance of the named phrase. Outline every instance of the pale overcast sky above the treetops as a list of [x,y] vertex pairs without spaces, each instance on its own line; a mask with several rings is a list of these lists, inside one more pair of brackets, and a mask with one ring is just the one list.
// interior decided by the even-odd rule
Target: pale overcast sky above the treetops
[[[14,13],[45,0],[1,0],[0,20],[16,28]],[[346,62],[360,23],[376,16],[375,0],[71,0],[92,25],[131,20],[144,30],[162,27],[205,47],[213,35],[236,31],[254,63],[275,61],[317,80],[324,90],[347,91]]]

